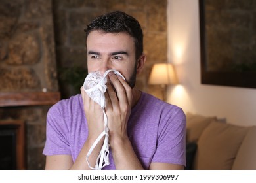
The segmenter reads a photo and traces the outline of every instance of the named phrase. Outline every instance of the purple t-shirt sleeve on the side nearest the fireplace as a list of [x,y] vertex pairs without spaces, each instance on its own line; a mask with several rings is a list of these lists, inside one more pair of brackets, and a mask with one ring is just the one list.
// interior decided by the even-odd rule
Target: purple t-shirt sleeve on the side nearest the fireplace
[[56,103],[47,113],[46,142],[43,154],[46,156],[57,154],[71,154],[68,124],[64,116],[64,108]]

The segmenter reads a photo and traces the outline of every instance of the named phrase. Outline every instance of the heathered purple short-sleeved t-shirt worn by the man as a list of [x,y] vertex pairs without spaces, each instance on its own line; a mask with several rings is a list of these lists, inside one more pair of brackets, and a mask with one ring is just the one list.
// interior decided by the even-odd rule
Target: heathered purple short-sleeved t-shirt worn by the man
[[[186,165],[186,116],[181,108],[142,92],[127,124],[127,133],[144,169],[151,162]],[[47,114],[47,139],[43,154],[79,155],[88,135],[81,95],[59,101]],[[129,157],[127,157],[129,158]],[[110,147],[110,165],[116,169]]]

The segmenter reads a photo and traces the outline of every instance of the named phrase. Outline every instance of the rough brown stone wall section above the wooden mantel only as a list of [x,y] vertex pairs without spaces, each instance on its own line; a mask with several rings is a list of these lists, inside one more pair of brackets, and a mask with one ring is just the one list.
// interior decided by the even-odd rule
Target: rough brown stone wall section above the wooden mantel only
[[0,91],[58,91],[51,1],[1,1]]

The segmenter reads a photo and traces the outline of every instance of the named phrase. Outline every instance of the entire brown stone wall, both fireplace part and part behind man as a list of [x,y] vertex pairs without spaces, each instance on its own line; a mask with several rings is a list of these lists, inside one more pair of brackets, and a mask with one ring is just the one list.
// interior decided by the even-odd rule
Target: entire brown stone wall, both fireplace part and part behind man
[[[60,90],[62,98],[79,93],[76,88],[87,74],[83,30],[96,16],[123,10],[135,16],[144,31],[148,57],[137,88],[160,96],[160,90],[147,82],[152,65],[167,61],[166,7],[162,0],[1,0],[0,93]],[[0,120],[26,122],[27,169],[45,167],[42,150],[49,107],[0,107]]]

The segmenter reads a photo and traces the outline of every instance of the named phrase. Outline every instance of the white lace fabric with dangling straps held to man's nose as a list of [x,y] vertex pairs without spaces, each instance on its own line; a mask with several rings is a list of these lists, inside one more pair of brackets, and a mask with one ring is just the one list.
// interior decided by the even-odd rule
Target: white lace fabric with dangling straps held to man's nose
[[[116,71],[114,69],[110,69],[110,70],[106,71],[103,76],[100,75],[99,71],[89,73],[89,75],[87,75],[87,77],[85,78],[85,82],[83,83],[83,89],[85,90],[87,95],[89,95],[89,97],[91,99],[93,99],[93,101],[95,101],[96,103],[98,103],[100,105],[100,107],[102,108],[102,113],[103,113],[103,117],[104,117],[104,131],[102,131],[102,133],[98,136],[96,141],[93,143],[93,145],[89,149],[89,152],[87,153],[87,157],[86,157],[88,166],[91,169],[95,169],[95,170],[102,169],[103,167],[106,167],[107,165],[110,164],[110,162],[109,162],[110,144],[108,142],[109,141],[108,117],[106,116],[106,112],[105,112],[106,102],[105,102],[105,95],[104,95],[104,93],[106,92],[106,89],[107,89],[106,76],[108,75],[108,73],[110,71],[114,72],[114,74],[119,75],[123,79],[125,79],[123,77],[123,75],[121,75],[121,73],[119,73],[118,71]],[[91,165],[88,161],[89,156],[93,152],[93,149],[98,144],[100,139],[102,139],[102,137],[104,137],[104,136],[105,136],[104,142],[103,142],[102,148],[100,150],[100,153],[98,154],[98,157],[96,159],[96,165],[95,165],[95,167],[91,167]]]

